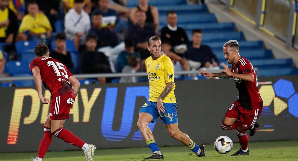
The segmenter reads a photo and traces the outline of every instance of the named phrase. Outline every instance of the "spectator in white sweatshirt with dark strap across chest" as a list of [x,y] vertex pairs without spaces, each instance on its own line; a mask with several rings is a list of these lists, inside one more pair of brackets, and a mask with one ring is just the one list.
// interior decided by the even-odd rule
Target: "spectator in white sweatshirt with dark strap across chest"
[[74,41],[77,50],[84,45],[91,28],[90,17],[83,7],[84,0],[74,0],[74,8],[68,11],[64,21],[66,38]]

